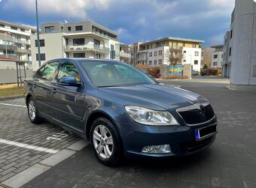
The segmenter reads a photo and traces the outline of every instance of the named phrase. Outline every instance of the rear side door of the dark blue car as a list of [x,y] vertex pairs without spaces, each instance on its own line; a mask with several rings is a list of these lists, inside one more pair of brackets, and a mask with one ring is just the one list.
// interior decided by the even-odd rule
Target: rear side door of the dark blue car
[[51,61],[41,67],[35,73],[32,91],[35,97],[36,105],[41,115],[51,117],[53,109],[51,108],[52,98],[51,91],[53,89],[53,78],[56,75],[56,70],[59,61]]

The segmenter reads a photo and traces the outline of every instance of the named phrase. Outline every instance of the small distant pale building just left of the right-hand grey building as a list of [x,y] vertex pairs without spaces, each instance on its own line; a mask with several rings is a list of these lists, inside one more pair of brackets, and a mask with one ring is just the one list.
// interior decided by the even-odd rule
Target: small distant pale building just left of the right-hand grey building
[[211,68],[221,73],[223,61],[223,45],[211,46],[212,52]]

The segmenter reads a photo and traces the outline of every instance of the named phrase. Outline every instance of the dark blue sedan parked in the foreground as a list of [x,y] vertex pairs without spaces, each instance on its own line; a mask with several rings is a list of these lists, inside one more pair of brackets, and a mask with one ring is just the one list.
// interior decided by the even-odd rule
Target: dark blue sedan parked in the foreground
[[217,117],[205,97],[163,85],[120,61],[59,58],[24,82],[29,119],[90,140],[107,166],[125,158],[194,154],[215,141]]

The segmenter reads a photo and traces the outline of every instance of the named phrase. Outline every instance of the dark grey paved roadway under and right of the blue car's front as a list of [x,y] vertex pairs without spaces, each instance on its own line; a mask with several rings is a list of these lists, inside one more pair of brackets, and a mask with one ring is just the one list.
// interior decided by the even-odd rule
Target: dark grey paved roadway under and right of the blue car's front
[[224,84],[169,82],[208,98],[218,116],[213,145],[169,160],[125,160],[109,168],[87,146],[25,184],[27,187],[256,187],[256,93]]

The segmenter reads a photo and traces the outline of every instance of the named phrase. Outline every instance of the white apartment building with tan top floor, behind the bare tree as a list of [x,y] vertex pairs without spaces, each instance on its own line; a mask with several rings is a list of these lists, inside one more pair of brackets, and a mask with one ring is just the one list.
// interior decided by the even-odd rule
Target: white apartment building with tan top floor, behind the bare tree
[[191,64],[193,70],[200,71],[201,52],[200,43],[204,40],[192,40],[179,37],[165,37],[147,43],[135,43],[132,48],[132,64],[159,66],[169,64],[166,57],[169,49],[181,49],[184,58],[181,64]]

